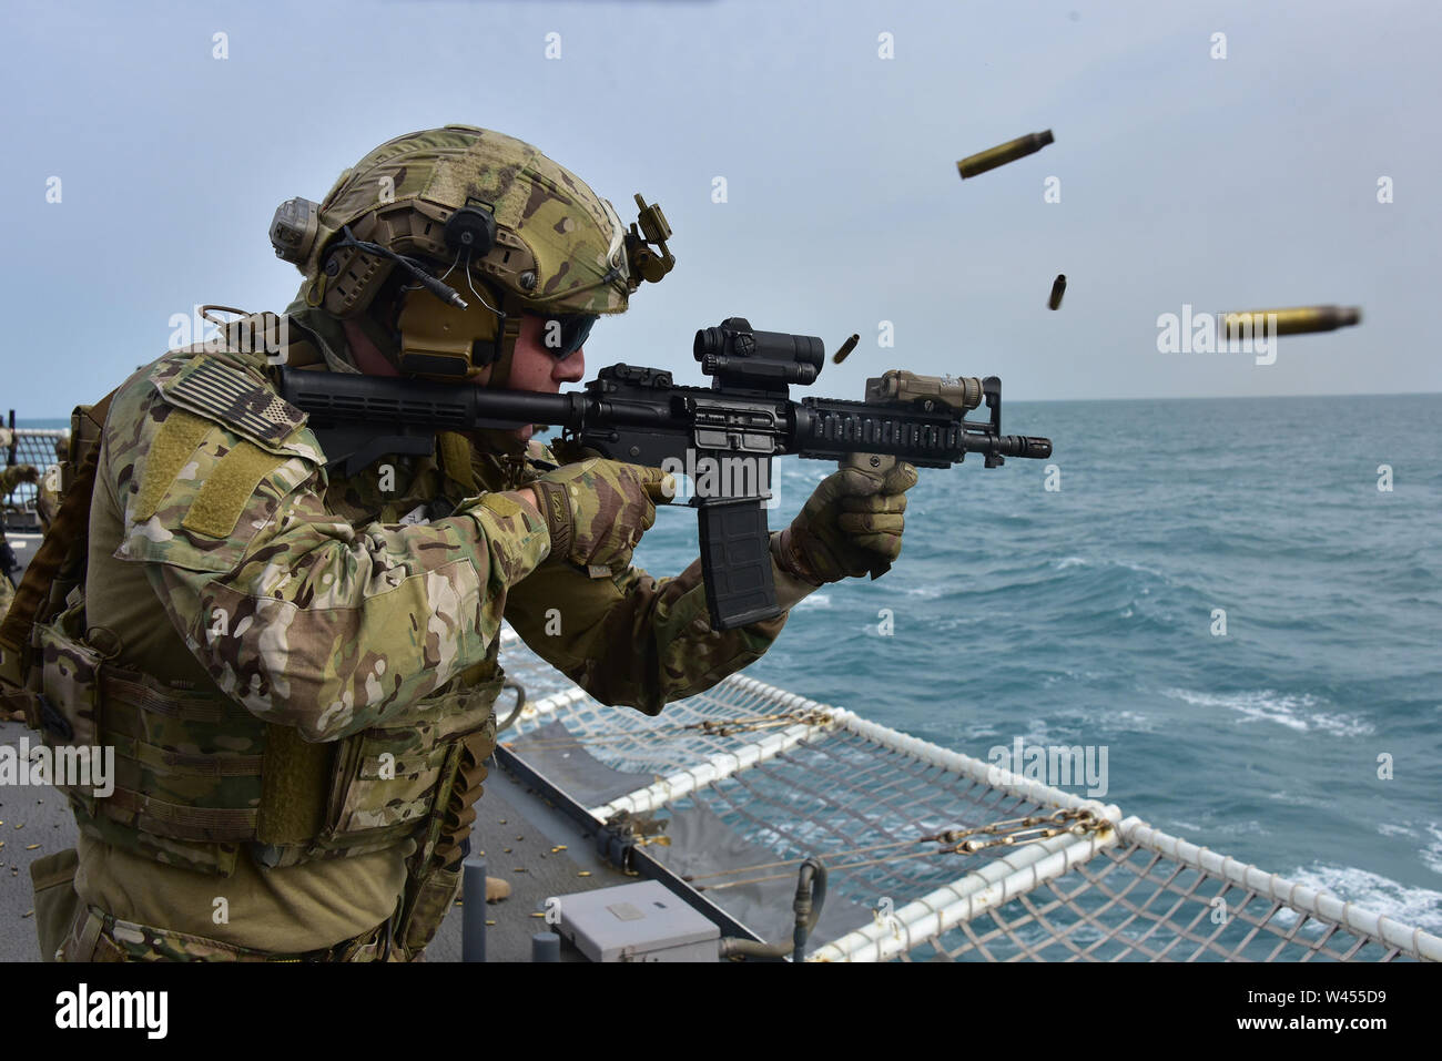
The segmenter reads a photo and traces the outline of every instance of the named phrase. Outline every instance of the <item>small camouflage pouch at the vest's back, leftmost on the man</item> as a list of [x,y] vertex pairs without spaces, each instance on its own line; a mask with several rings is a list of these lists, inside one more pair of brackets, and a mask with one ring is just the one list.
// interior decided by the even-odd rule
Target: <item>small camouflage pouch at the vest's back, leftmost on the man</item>
[[92,814],[95,787],[101,781],[97,773],[104,770],[98,735],[105,657],[76,631],[84,623],[81,601],[50,623],[36,626],[32,636],[40,654],[36,711],[40,740],[52,757],[49,780],[71,803]]

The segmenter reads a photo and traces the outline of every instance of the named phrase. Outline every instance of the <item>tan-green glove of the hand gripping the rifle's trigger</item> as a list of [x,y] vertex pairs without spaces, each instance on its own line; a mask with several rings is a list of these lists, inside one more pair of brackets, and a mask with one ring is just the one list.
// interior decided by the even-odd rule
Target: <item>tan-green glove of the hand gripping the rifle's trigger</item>
[[591,457],[529,483],[551,530],[551,559],[623,568],[656,522],[656,502],[675,494],[660,469]]

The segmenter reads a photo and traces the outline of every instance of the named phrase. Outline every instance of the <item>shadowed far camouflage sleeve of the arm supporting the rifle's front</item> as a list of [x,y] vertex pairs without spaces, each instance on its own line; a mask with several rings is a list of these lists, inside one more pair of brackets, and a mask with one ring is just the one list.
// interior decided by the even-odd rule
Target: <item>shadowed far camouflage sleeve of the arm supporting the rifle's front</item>
[[[783,607],[809,591],[780,569],[773,574]],[[676,578],[662,580],[639,568],[593,580],[552,561],[531,572],[506,601],[506,618],[538,656],[603,703],[647,715],[760,659],[786,614],[712,630],[699,559]]]

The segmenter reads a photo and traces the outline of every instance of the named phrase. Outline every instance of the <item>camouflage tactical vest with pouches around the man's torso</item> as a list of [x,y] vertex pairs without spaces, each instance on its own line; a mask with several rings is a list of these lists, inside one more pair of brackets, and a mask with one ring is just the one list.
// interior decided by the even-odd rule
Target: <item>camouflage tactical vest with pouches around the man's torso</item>
[[[94,469],[98,432],[92,435],[89,453],[72,454],[81,469],[87,461]],[[444,441],[447,477],[470,479],[469,469],[456,467],[469,460],[469,444]],[[85,497],[66,496],[72,507],[92,496],[84,474],[76,487]],[[69,523],[74,535],[75,520]],[[85,786],[62,787],[85,833],[218,875],[234,872],[242,848],[260,865],[287,866],[414,839],[412,866],[459,862],[482,764],[495,748],[492,705],[503,683],[495,646],[487,660],[384,725],[307,744],[293,727],[249,714],[209,679],[166,680],[118,662],[117,650],[87,624],[84,575],[75,571],[87,542],[61,545],[69,568],[53,590],[72,588],[62,605],[52,590],[49,616],[40,608],[33,626],[27,721],[58,760],[79,761],[88,748],[115,750],[108,797]],[[153,614],[169,623],[159,601]]]

